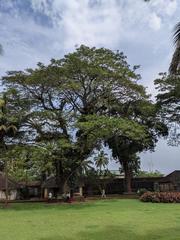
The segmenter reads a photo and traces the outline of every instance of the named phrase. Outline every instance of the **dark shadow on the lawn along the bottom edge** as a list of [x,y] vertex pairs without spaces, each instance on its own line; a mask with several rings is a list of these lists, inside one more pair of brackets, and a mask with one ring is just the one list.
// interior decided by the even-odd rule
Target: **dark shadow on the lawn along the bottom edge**
[[179,227],[170,229],[161,229],[157,231],[148,231],[138,234],[136,231],[120,226],[107,226],[106,228],[97,231],[96,227],[92,229],[88,227],[87,231],[79,232],[72,237],[63,235],[55,235],[38,240],[178,240]]

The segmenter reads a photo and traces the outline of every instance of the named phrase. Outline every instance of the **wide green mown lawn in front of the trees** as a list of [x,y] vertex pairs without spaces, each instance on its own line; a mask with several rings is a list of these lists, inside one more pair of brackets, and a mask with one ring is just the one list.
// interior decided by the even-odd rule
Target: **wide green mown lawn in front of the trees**
[[180,204],[138,200],[14,204],[0,209],[0,239],[179,240]]

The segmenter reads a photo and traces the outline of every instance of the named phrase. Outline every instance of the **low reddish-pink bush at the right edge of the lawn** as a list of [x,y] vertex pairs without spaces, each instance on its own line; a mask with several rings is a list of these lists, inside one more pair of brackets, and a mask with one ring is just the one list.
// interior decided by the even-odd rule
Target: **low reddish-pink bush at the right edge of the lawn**
[[146,192],[140,200],[154,203],[180,203],[180,192]]

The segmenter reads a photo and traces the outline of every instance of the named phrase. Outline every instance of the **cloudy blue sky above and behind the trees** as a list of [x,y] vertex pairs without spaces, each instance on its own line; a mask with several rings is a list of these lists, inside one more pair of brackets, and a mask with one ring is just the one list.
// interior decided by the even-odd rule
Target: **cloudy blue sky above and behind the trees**
[[[0,75],[47,64],[81,44],[106,47],[141,66],[139,83],[154,98],[153,81],[172,57],[179,12],[180,0],[0,0]],[[180,169],[180,147],[161,139],[155,152],[141,154],[141,167],[165,174]]]

